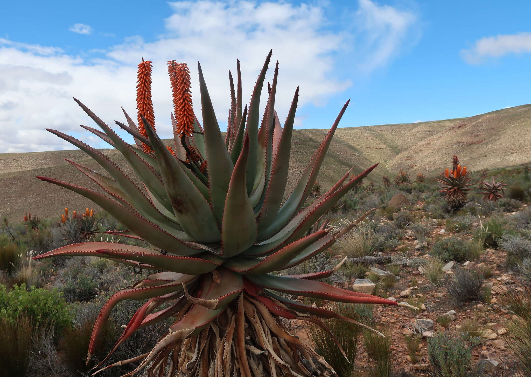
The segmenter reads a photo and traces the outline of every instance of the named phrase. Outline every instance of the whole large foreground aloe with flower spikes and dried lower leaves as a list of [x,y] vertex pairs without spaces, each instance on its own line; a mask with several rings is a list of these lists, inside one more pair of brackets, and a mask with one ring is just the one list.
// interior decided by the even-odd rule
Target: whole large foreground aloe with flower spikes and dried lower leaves
[[[193,114],[187,66],[168,62],[175,105],[173,153],[155,132],[149,106],[139,108],[141,127],[137,128],[127,115],[129,125],[116,122],[133,136],[135,147],[75,100],[103,132],[85,128],[122,153],[138,176],[134,180],[100,150],[62,132],[48,130],[87,152],[110,178],[74,161],[68,162],[99,184],[103,193],[53,178],[38,178],[91,199],[129,229],[109,233],[142,239],[152,249],[84,242],[36,259],[92,255],[130,265],[137,271],[161,271],[117,292],[102,307],[92,332],[89,358],[98,347],[113,308],[125,299],[142,304],[112,352],[140,327],[171,319],[167,332],[161,333],[158,344],[148,354],[104,369],[137,361],[140,366],[126,375],[148,367],[150,376],[332,376],[336,375],[332,367],[310,345],[291,335],[280,318],[319,325],[323,325],[320,318],[357,322],[286,296],[400,305],[319,281],[331,276],[339,265],[328,271],[281,276],[283,270],[327,250],[371,212],[341,230],[312,228],[376,165],[350,179],[350,172],[346,172],[330,190],[309,207],[304,206],[347,102],[284,200],[298,88],[282,126],[275,111],[277,62],[260,122],[260,98],[270,57],[271,53],[245,107],[239,62],[236,88],[230,75],[232,103],[225,139],[201,66],[198,71],[202,127]],[[143,67],[150,72],[150,62]],[[141,88],[148,91],[148,85]],[[137,95],[143,104],[151,104],[143,93]],[[135,183],[138,181],[141,186]],[[310,229],[314,233],[308,235]]]

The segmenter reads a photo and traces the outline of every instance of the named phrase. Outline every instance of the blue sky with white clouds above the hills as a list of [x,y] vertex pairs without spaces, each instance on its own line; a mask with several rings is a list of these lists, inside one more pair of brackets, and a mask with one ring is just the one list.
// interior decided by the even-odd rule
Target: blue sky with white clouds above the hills
[[348,98],[341,126],[465,117],[531,102],[529,1],[86,4],[3,5],[0,152],[70,149],[42,128],[79,135],[79,124],[91,125],[72,96],[107,123],[122,120],[119,106],[134,115],[141,57],[153,61],[163,136],[170,135],[168,59],[190,65],[193,93],[201,62],[223,124],[227,70],[241,59],[247,97],[269,48],[280,61],[281,119],[301,87],[299,128],[329,127]]

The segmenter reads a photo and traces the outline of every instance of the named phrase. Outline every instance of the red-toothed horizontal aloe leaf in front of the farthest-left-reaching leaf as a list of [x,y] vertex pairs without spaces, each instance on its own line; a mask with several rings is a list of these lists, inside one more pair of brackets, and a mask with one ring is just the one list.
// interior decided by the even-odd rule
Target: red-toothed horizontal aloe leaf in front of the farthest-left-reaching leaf
[[204,253],[192,257],[177,255],[162,255],[150,250],[146,252],[119,252],[108,249],[97,250],[99,253],[115,259],[127,259],[132,261],[149,263],[160,270],[168,270],[179,273],[189,273],[191,275],[201,275],[215,270],[224,262],[219,256]]

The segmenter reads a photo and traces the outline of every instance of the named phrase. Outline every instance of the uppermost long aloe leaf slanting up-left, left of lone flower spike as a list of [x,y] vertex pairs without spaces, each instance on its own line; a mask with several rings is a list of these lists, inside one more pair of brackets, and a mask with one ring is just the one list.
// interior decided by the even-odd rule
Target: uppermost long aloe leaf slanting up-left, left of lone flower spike
[[136,174],[139,175],[139,177],[142,179],[142,182],[149,187],[153,194],[157,196],[157,199],[164,204],[166,208],[171,209],[172,207],[169,204],[169,200],[166,196],[164,184],[162,184],[162,181],[156,170],[149,165],[147,161],[140,157],[139,153],[136,152],[136,149],[131,148],[129,144],[123,141],[118,134],[116,134],[105,122],[98,118],[96,114],[92,113],[87,106],[83,105],[75,98],[74,100],[83,109],[83,111],[87,113],[89,117],[91,117],[92,120],[101,127],[102,130],[105,131],[109,138],[113,140],[116,148],[122,153],[127,162],[129,162]]

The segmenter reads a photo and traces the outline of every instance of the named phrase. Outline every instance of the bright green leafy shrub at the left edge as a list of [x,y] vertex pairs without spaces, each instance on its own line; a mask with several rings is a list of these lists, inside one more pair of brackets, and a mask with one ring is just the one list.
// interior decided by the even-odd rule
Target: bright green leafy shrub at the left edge
[[0,319],[15,323],[30,318],[35,328],[47,325],[57,331],[66,327],[72,318],[70,306],[57,289],[26,290],[25,284],[8,290],[0,285]]

